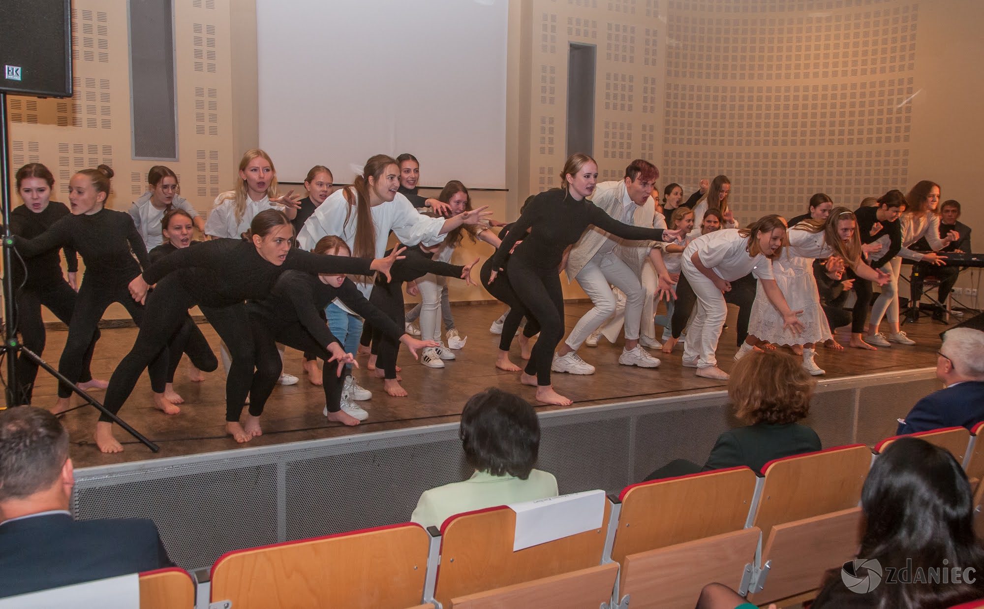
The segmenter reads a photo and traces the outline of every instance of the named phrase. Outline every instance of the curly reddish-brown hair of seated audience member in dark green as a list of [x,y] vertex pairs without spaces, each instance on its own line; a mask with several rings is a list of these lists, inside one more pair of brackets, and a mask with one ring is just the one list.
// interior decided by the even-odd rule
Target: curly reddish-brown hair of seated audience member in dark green
[[728,379],[735,415],[750,424],[796,423],[810,411],[814,381],[799,360],[779,351],[753,351]]

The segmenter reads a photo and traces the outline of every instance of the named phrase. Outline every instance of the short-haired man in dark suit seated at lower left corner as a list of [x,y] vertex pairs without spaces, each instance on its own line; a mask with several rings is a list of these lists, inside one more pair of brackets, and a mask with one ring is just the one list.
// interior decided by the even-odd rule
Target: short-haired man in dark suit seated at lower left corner
[[0,411],[0,597],[172,566],[151,520],[74,520],[74,485],[58,419]]

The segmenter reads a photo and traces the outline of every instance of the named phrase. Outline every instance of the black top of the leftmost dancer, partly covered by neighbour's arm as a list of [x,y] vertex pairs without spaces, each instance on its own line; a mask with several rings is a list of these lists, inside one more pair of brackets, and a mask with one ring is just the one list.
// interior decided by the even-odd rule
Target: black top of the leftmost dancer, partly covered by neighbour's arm
[[[58,201],[49,201],[48,206],[36,214],[27,205],[22,205],[10,213],[10,231],[14,235],[24,238],[34,238],[42,235],[56,222],[71,214],[72,212],[68,210],[68,207]],[[62,250],[65,252],[65,260],[68,261],[68,271],[70,273],[78,272],[79,258],[76,256],[75,249],[71,245],[65,245]],[[27,272],[27,281],[24,287],[29,290],[48,288],[65,280],[57,249],[32,258],[25,258],[25,268],[21,267],[18,260],[14,261],[12,267],[15,287],[20,286],[21,282],[25,282],[25,272]]]

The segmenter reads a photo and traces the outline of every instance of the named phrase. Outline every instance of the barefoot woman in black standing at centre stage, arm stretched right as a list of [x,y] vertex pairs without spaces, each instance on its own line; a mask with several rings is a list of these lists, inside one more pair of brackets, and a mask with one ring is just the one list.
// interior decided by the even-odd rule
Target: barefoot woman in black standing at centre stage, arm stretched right
[[[561,172],[563,187],[536,195],[493,256],[489,282],[495,281],[499,271],[508,271],[509,284],[517,298],[540,325],[540,337],[521,381],[535,385],[536,399],[547,404],[571,404],[571,400],[554,391],[550,384],[554,349],[564,336],[564,295],[558,268],[567,247],[592,225],[632,240],[679,237],[679,231],[622,224],[587,201],[584,197],[593,192],[597,176],[598,167],[593,159],[581,153],[572,155]],[[526,231],[529,235],[523,237]],[[520,237],[523,242],[513,251]]]

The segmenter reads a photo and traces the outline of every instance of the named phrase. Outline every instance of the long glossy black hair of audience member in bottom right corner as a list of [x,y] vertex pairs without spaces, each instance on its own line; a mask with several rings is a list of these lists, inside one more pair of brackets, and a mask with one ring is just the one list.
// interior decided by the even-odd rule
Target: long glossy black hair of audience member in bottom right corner
[[[875,459],[861,494],[865,531],[860,559],[882,568],[973,568],[975,583],[895,583],[869,594],[878,607],[949,607],[984,596],[984,550],[973,529],[970,484],[944,448],[917,438],[892,442]],[[906,561],[910,561],[908,564]]]

